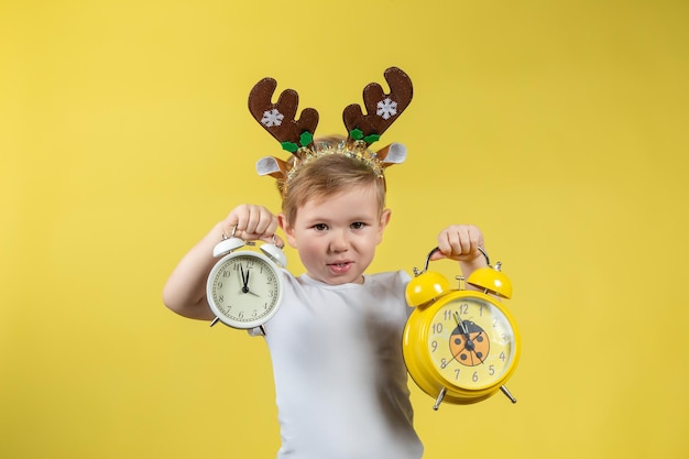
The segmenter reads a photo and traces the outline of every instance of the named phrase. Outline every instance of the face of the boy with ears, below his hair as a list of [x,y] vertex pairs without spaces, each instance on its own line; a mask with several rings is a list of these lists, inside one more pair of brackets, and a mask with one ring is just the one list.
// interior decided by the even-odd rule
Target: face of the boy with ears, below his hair
[[356,187],[320,203],[308,200],[294,225],[283,215],[280,223],[310,277],[331,285],[362,283],[390,221],[390,210],[380,215],[379,209],[372,187]]

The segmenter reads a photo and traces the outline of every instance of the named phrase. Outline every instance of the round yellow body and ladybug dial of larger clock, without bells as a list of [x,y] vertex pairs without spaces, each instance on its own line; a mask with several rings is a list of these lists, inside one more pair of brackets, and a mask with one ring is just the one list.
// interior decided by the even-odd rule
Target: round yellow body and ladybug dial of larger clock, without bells
[[474,403],[495,393],[520,354],[514,319],[494,298],[455,291],[417,307],[404,330],[405,363],[416,384],[450,403]]

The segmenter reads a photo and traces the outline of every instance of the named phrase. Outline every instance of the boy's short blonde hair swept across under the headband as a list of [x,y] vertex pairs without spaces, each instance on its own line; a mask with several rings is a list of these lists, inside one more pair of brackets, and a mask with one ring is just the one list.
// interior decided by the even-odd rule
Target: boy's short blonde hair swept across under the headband
[[[341,138],[332,136],[319,139],[316,143],[339,140]],[[287,189],[281,182],[277,187],[283,195],[282,210],[289,225],[294,225],[297,210],[307,201],[322,201],[360,186],[373,189],[379,212],[382,214],[385,208],[385,178],[356,157],[339,154],[321,156],[299,167],[291,177]]]

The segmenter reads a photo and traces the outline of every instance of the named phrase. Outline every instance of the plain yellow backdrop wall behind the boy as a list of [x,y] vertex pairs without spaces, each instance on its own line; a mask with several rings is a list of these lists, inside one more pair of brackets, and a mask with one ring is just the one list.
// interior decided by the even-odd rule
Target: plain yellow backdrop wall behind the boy
[[278,208],[255,81],[342,133],[396,65],[415,99],[380,144],[409,156],[372,270],[477,223],[524,341],[516,405],[414,389],[426,457],[686,458],[688,23],[683,0],[1,1],[0,457],[274,457],[264,343],[161,289],[234,205]]

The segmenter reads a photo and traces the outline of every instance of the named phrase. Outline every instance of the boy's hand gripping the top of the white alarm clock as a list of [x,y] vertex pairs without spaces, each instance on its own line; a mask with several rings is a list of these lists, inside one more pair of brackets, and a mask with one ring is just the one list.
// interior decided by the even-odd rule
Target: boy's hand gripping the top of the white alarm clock
[[261,240],[284,245],[283,240],[275,234],[278,226],[277,217],[263,206],[252,204],[237,206],[221,226],[223,234],[228,238],[233,232],[237,238],[245,241]]

